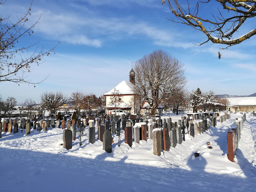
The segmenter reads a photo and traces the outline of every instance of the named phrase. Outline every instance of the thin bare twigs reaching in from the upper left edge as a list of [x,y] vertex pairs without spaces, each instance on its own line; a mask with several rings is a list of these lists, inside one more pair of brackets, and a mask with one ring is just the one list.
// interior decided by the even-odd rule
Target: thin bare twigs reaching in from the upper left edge
[[[0,4],[3,3],[3,1],[0,2]],[[32,67],[42,63],[43,56],[49,56],[54,52],[56,46],[50,51],[43,51],[38,50],[37,43],[25,47],[19,43],[25,36],[29,37],[34,33],[32,29],[40,19],[38,18],[32,25],[27,25],[31,6],[32,4],[22,17],[17,17],[15,22],[11,22],[8,16],[0,16],[0,82],[37,84],[43,81],[32,82],[27,79],[28,73],[32,72]],[[28,56],[24,54],[30,51],[32,52]]]

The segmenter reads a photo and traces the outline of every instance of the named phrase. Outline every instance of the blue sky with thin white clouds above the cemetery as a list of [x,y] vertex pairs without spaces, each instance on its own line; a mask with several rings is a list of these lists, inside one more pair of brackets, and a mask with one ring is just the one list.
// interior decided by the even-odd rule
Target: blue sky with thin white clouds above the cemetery
[[[0,6],[2,16],[23,15],[31,1],[8,0]],[[212,18],[216,7],[200,9]],[[74,91],[100,96],[122,80],[129,80],[131,61],[162,49],[181,60],[186,68],[187,89],[212,90],[215,94],[247,95],[256,92],[256,37],[220,50],[221,45],[206,43],[206,36],[193,28],[173,23],[173,15],[161,0],[34,0],[28,24],[41,15],[32,36],[20,40],[21,46],[39,41],[47,51],[56,47],[56,54],[44,57],[28,78],[39,81],[34,86],[0,83],[3,99],[13,96],[18,102],[32,98],[40,102],[43,92],[61,91],[70,96]],[[254,23],[254,24],[252,24]],[[255,28],[255,19],[246,22],[239,34]],[[239,35],[238,34],[238,35]],[[32,51],[32,50],[31,50]]]

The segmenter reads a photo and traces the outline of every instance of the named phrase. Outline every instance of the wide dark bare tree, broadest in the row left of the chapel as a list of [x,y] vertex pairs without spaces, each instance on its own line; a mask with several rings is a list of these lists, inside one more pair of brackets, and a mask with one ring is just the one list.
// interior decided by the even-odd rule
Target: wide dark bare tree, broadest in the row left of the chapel
[[62,92],[44,92],[41,94],[41,104],[50,110],[51,114],[55,114],[58,110],[58,107],[64,105],[66,101],[66,96],[64,96]]

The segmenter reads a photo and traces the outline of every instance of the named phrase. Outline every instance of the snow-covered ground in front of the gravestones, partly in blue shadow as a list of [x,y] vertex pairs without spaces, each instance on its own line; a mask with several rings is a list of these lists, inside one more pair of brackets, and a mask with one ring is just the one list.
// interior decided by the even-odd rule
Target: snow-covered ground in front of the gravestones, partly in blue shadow
[[[152,139],[129,147],[124,133],[120,147],[114,135],[113,151],[107,153],[97,138],[87,142],[87,130],[83,145],[76,139],[70,150],[60,145],[60,128],[31,130],[26,136],[20,130],[2,132],[0,192],[256,191],[256,117],[247,114],[235,163],[226,154],[227,132],[241,116],[233,114],[195,138],[186,134],[186,141],[161,156],[153,154]],[[195,152],[200,156],[195,158]]]

